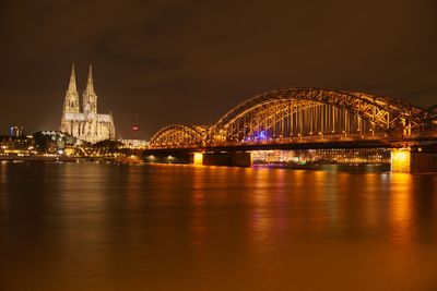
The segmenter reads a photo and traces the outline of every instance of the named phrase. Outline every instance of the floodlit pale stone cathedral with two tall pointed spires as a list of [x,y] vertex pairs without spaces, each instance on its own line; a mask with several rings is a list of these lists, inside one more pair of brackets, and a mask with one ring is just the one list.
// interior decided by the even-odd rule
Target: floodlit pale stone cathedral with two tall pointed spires
[[[82,109],[82,111],[81,111]],[[93,68],[90,65],[86,88],[82,94],[82,108],[75,85],[74,64],[71,69],[70,84],[62,109],[61,132],[88,142],[115,138],[113,114],[97,113],[97,95],[93,85]]]

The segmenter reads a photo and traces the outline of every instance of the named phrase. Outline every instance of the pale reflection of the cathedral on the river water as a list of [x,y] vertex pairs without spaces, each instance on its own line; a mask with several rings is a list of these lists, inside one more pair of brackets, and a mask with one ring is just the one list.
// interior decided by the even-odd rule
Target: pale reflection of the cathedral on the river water
[[[64,255],[57,263],[58,271],[62,274],[61,278],[54,276],[52,283],[63,280],[62,284],[67,289],[69,284],[80,288],[80,278],[87,278],[90,284],[98,281],[97,270],[103,268],[107,260],[105,244],[110,242],[113,235],[105,229],[110,201],[105,191],[108,169],[99,165],[88,165],[86,171],[81,171],[80,166],[59,166],[59,216],[62,217],[59,252]],[[90,268],[94,271],[90,272]]]

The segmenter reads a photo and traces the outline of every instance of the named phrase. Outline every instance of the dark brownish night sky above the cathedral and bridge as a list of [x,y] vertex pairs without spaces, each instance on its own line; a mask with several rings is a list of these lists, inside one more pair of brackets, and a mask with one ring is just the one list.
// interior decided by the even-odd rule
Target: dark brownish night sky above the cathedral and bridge
[[93,64],[117,135],[209,124],[276,87],[437,104],[437,1],[0,0],[0,133],[58,130],[71,63]]

